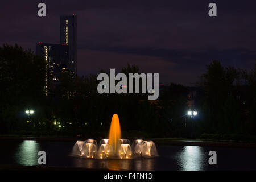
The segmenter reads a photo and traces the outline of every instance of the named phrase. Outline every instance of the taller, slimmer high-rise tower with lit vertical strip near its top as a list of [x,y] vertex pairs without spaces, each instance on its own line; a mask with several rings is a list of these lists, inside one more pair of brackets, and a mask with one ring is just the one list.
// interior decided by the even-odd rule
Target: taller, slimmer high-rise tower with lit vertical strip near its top
[[60,16],[60,44],[69,47],[68,70],[71,77],[74,77],[77,71],[77,24],[75,14]]

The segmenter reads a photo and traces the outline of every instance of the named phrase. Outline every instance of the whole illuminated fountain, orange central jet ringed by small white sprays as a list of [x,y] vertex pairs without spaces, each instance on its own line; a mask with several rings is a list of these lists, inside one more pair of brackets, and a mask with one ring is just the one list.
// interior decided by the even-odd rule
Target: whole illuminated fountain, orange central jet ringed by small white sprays
[[119,118],[114,114],[110,124],[109,138],[100,140],[99,145],[94,139],[77,141],[73,146],[72,156],[90,159],[142,159],[158,156],[158,152],[152,141],[137,139],[130,145],[128,139],[121,139]]

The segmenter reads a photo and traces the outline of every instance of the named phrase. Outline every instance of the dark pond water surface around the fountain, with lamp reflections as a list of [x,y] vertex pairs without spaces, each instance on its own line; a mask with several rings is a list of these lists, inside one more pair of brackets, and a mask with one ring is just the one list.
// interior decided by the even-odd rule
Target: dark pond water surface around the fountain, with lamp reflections
[[[256,170],[255,148],[156,145],[159,157],[133,160],[97,160],[69,156],[75,142],[2,140],[0,164],[38,165],[38,152],[46,152],[48,166],[115,170]],[[209,151],[217,152],[217,165],[209,165]]]

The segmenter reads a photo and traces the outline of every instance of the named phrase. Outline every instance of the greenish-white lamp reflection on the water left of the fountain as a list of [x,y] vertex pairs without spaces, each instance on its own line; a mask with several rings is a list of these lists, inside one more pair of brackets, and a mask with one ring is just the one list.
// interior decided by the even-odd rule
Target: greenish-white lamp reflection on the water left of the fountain
[[36,141],[25,140],[19,144],[15,154],[18,164],[33,166],[38,164],[39,143]]

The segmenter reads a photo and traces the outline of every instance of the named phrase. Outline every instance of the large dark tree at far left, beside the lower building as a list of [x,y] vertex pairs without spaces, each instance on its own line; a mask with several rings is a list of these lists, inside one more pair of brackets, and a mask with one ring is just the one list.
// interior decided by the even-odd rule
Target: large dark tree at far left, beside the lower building
[[30,49],[17,44],[0,47],[0,132],[18,126],[21,113],[42,101],[44,76],[44,60]]

